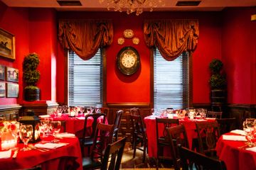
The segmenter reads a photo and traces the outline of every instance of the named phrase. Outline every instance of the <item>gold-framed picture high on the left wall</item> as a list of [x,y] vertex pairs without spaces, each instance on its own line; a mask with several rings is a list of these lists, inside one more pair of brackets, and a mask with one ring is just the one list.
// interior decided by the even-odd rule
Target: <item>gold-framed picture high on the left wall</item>
[[0,28],[0,56],[15,60],[15,36]]

